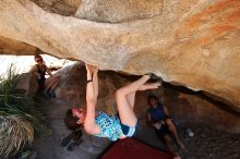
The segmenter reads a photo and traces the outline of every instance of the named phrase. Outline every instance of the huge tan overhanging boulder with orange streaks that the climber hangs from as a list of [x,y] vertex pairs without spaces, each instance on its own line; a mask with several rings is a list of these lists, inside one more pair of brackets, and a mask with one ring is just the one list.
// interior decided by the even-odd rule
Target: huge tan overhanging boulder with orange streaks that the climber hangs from
[[63,2],[35,2],[1,0],[0,36],[103,70],[153,72],[240,112],[240,1],[72,0],[68,14],[48,12]]

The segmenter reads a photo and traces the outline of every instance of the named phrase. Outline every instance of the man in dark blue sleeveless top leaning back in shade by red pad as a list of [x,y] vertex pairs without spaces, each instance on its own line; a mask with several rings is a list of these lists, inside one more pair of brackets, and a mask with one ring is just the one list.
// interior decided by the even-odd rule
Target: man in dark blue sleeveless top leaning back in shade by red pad
[[175,139],[181,149],[185,150],[185,146],[179,139],[178,132],[172,120],[169,117],[167,107],[159,103],[156,96],[149,96],[148,103],[151,106],[151,109],[147,112],[148,125],[153,126],[156,130],[156,134],[159,139],[164,139],[167,148],[175,156],[175,159],[180,159],[179,154],[175,151],[175,148],[172,147],[172,140],[169,134],[172,134],[175,136]]

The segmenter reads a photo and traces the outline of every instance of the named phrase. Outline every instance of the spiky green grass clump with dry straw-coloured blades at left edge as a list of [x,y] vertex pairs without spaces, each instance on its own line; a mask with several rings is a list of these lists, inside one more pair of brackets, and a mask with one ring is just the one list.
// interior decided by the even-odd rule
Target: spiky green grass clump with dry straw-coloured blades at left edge
[[14,155],[34,140],[34,132],[48,133],[44,114],[32,97],[15,91],[19,75],[13,65],[0,80],[0,157]]

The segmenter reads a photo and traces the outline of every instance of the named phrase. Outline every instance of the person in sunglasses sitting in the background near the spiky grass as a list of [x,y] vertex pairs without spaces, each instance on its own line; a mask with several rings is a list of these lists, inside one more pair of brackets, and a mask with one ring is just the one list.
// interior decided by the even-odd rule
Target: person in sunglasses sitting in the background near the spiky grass
[[[29,73],[37,76],[39,91],[44,93],[44,96],[46,96],[46,97],[55,97],[55,88],[57,87],[57,85],[59,83],[59,76],[52,75],[51,71],[45,64],[45,61],[41,58],[41,56],[36,54],[34,57],[34,60],[37,62],[37,64],[35,64],[31,68]],[[50,76],[47,80],[45,77],[46,72]]]

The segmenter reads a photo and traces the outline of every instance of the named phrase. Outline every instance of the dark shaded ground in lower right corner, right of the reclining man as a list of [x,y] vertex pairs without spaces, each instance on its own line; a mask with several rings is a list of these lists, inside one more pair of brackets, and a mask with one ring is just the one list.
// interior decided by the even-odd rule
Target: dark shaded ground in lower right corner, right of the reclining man
[[193,137],[187,135],[187,125],[179,129],[189,149],[188,159],[240,159],[240,134],[213,130],[203,123],[188,127],[194,132]]

